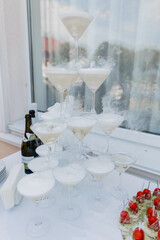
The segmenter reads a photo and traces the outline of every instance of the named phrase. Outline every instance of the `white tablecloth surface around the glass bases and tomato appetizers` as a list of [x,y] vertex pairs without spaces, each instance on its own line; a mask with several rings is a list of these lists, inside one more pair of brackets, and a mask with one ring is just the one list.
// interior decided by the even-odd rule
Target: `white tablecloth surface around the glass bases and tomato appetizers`
[[[21,161],[20,152],[3,159],[7,171]],[[129,197],[135,195],[142,188],[142,178],[124,174],[122,184],[129,192]],[[63,186],[59,184],[52,191],[55,203],[50,208],[37,208],[34,203],[23,198],[21,204],[10,210],[5,210],[0,199],[0,240],[31,240],[36,239],[26,234],[27,222],[36,216],[46,216],[51,220],[51,228],[47,235],[40,240],[121,240],[118,229],[118,216],[122,210],[122,203],[110,195],[110,191],[118,183],[118,173],[113,171],[104,179],[104,190],[108,192],[108,204],[105,211],[95,212],[88,201],[91,195],[89,177],[79,186],[80,195],[73,198],[73,202],[81,207],[80,218],[74,221],[62,220],[59,209],[66,202]],[[145,181],[146,186],[148,182]],[[2,186],[3,182],[0,184]],[[154,189],[155,183],[151,183]]]

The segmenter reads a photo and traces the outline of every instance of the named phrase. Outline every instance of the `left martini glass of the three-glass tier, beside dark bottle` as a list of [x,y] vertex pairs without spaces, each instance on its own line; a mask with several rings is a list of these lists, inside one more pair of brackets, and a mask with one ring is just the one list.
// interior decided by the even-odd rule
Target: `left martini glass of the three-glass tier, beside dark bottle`
[[55,143],[58,138],[63,134],[66,126],[64,124],[60,124],[54,121],[46,121],[33,124],[31,126],[31,129],[48,147],[48,169],[52,168],[51,147],[53,143]]

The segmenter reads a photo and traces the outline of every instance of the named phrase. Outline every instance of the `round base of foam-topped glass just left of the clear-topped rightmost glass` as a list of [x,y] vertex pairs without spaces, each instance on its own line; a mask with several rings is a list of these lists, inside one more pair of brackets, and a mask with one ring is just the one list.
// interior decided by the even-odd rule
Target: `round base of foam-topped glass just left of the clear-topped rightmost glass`
[[91,209],[97,212],[104,211],[107,208],[108,202],[108,199],[103,195],[100,197],[92,196],[92,198],[90,197],[88,200]]

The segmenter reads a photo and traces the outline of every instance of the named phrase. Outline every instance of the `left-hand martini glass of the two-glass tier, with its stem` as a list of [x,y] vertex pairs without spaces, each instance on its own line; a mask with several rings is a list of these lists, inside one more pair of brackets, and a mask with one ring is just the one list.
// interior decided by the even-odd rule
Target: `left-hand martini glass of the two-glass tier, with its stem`
[[63,96],[64,91],[70,89],[78,77],[77,71],[64,68],[46,68],[44,70],[49,82],[60,92],[61,113],[60,118],[64,119]]

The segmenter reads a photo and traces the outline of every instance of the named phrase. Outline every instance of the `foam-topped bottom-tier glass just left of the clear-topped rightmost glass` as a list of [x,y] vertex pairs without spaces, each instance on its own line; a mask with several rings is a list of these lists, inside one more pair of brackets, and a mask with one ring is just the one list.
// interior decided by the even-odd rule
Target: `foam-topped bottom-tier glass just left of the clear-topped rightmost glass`
[[86,169],[96,182],[96,191],[94,196],[89,198],[89,204],[95,211],[103,211],[107,207],[106,194],[103,193],[103,182],[107,176],[114,169],[114,164],[111,160],[101,155],[87,160]]

